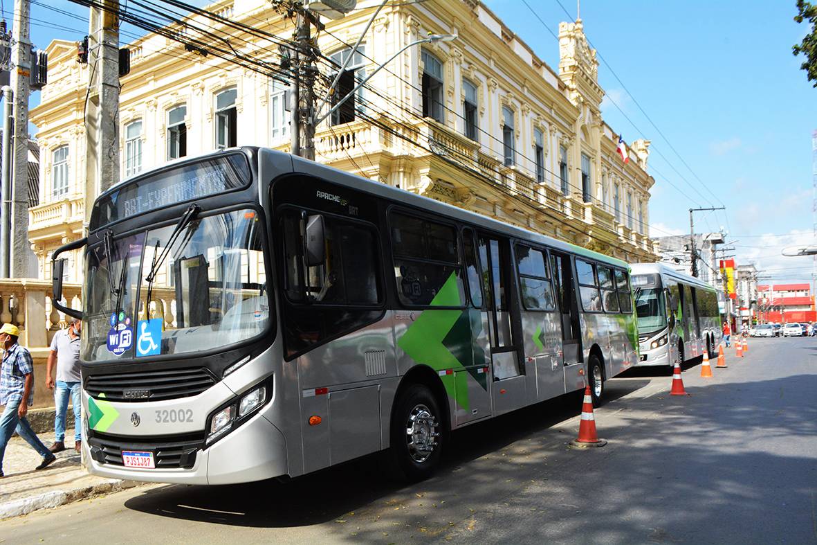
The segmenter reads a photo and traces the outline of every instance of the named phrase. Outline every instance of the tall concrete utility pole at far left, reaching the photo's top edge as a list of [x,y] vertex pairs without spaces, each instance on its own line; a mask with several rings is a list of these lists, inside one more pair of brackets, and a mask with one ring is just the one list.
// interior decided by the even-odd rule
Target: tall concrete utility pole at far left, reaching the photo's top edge
[[[15,0],[11,44],[14,140],[11,155],[11,276],[29,277],[29,0]],[[4,271],[5,272],[5,271]]]

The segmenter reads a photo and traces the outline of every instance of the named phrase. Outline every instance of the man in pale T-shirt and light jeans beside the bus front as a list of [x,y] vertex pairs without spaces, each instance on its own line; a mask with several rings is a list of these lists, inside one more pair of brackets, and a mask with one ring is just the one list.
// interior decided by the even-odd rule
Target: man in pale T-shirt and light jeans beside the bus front
[[[71,318],[66,329],[57,331],[51,340],[51,354],[48,354],[46,367],[46,387],[54,390],[54,404],[56,405],[56,417],[54,417],[54,444],[49,450],[52,453],[60,453],[65,450],[65,416],[68,412],[68,398],[71,397],[71,404],[74,406],[74,450],[79,452],[82,449],[83,422],[80,417],[82,399],[79,391],[82,385],[82,378],[79,374],[79,334],[83,322],[78,318]],[[54,381],[54,365],[56,364],[56,382]],[[55,390],[56,388],[56,390]]]

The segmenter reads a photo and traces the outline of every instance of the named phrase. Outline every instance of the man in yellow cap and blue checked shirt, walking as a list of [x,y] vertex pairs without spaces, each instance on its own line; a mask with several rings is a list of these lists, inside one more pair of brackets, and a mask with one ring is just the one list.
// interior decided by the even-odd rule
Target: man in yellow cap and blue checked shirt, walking
[[29,405],[34,402],[34,367],[28,349],[17,344],[19,336],[20,330],[10,323],[0,327],[0,345],[4,350],[0,368],[0,405],[6,406],[0,416],[0,477],[3,476],[2,458],[6,445],[15,430],[42,456],[38,470],[45,469],[56,460],[25,417]]

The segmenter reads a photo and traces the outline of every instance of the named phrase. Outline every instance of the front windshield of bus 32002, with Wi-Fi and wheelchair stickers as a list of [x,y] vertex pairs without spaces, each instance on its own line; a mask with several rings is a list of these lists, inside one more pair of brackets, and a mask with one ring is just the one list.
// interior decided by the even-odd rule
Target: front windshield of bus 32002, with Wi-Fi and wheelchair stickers
[[270,308],[257,213],[202,214],[172,236],[175,227],[88,251],[84,361],[198,352],[265,331]]

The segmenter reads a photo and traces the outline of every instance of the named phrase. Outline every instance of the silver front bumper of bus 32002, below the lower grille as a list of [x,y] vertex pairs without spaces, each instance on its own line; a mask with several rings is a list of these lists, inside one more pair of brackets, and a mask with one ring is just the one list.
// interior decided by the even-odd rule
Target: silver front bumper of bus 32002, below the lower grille
[[[138,441],[137,436],[124,439]],[[195,451],[187,468],[140,469],[102,462],[105,453],[94,439],[83,441],[83,459],[92,475],[114,479],[178,484],[236,484],[287,475],[283,434],[263,412],[210,446]],[[133,448],[137,450],[137,448]]]

